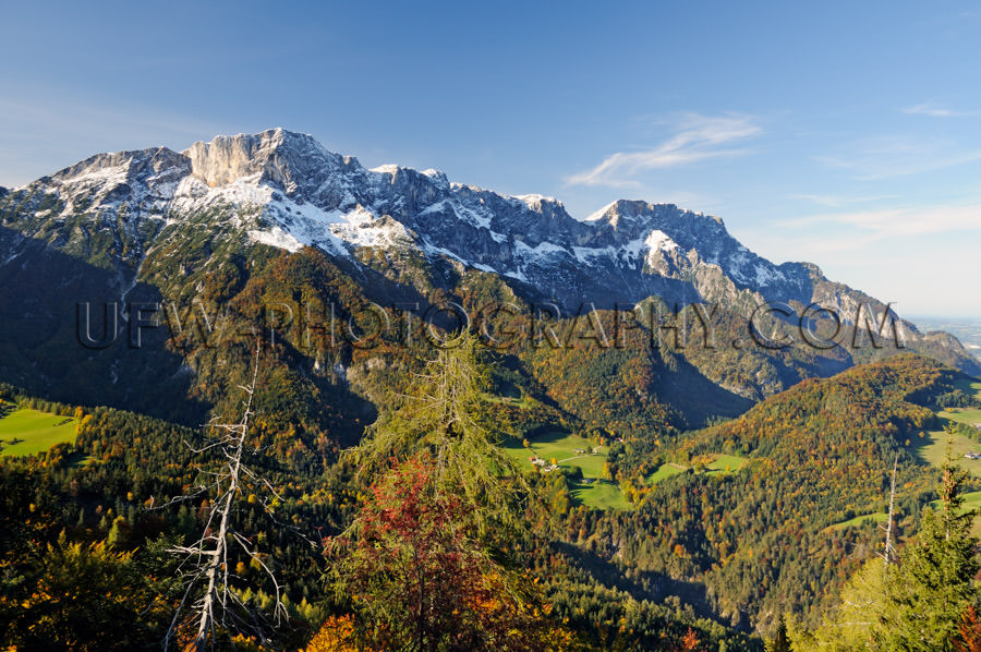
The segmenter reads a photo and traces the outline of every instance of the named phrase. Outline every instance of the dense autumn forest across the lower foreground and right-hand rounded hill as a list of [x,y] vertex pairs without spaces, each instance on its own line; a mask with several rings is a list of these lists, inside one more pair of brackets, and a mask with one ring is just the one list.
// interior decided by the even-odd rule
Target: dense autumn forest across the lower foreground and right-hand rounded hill
[[[229,495],[234,535],[256,553],[230,548],[222,562],[239,613],[209,631],[221,647],[803,650],[849,617],[849,596],[870,582],[889,587],[874,595],[882,625],[849,635],[855,649],[898,631],[908,642],[923,618],[938,638],[901,649],[977,642],[974,540],[958,506],[978,482],[949,463],[938,479],[917,456],[936,408],[976,400],[956,372],[892,358],[683,431],[656,401],[610,401],[622,390],[601,378],[649,382],[635,360],[565,351],[570,362],[535,371],[556,394],[536,394],[535,378],[508,371],[500,352],[462,340],[416,361],[344,449],[278,413],[289,376],[259,364],[244,447],[254,478],[231,495],[197,491],[223,463],[207,428],[4,386],[5,406],[76,420],[73,442],[0,462],[4,642],[159,647],[187,590],[173,551],[207,533]],[[506,400],[525,391],[538,398]],[[597,413],[603,401],[629,409]],[[242,411],[225,405],[226,420]],[[565,471],[504,455],[509,437],[544,426],[610,444],[606,472],[630,507],[590,508]],[[746,463],[710,472],[717,454]],[[663,464],[686,470],[655,482]],[[883,532],[836,523],[885,508],[894,464],[883,576]],[[934,566],[946,573],[940,584]],[[193,644],[194,623],[178,625],[174,647]]]

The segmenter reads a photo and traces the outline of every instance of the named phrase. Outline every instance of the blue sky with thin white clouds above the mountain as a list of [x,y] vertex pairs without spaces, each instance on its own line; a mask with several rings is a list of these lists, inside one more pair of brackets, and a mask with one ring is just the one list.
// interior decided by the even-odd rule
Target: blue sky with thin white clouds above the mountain
[[749,4],[0,2],[0,184],[284,126],[981,317],[981,5]]

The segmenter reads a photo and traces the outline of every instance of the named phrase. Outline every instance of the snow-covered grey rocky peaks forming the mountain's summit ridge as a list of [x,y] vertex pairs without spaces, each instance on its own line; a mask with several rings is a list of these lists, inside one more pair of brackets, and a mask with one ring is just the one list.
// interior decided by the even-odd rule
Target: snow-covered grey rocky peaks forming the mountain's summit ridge
[[[806,271],[760,258],[720,219],[674,204],[620,200],[580,221],[553,197],[450,183],[436,170],[366,170],[313,136],[283,129],[216,136],[182,153],[101,154],[35,185],[60,195],[66,212],[113,210],[125,202],[180,219],[227,206],[232,215],[226,224],[240,224],[238,214],[252,205],[263,216],[245,227],[252,241],[291,251],[319,246],[335,255],[408,245],[570,303],[650,294],[713,300],[741,290],[802,299],[811,293]],[[723,290],[700,280],[706,265],[728,279]]]

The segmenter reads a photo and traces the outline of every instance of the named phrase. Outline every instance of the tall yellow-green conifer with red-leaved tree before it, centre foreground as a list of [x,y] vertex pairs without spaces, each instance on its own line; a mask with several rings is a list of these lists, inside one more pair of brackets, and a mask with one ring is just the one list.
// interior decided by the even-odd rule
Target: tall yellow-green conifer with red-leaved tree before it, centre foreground
[[355,451],[374,481],[328,552],[355,638],[372,647],[557,649],[546,632],[571,644],[508,554],[526,532],[528,487],[488,425],[481,354],[465,334],[438,351]]

